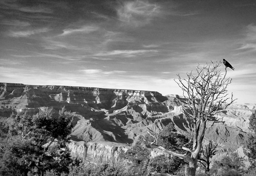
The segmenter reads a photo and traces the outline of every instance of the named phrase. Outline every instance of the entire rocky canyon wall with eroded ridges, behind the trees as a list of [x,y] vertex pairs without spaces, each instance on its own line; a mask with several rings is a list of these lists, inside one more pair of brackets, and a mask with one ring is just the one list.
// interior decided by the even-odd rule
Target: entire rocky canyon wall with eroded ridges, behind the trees
[[[171,121],[179,133],[187,133],[191,121],[184,117],[180,101],[184,101],[184,98],[162,96],[150,91],[0,83],[0,117],[10,117],[11,113],[23,111],[33,115],[42,107],[59,111],[65,106],[76,114],[71,136],[79,145],[73,146],[76,148],[74,153],[87,157],[94,155],[94,158],[97,158],[97,153],[118,153],[123,150],[121,146],[134,144],[148,129],[161,130]],[[237,149],[249,131],[252,109],[255,109],[255,104],[229,106],[219,114],[224,123],[208,128],[205,140],[217,141],[221,146],[220,151]],[[86,148],[80,145],[82,141],[86,142]],[[103,143],[109,145],[109,142],[117,143],[120,147],[100,146]],[[102,152],[93,150],[96,144],[96,148],[101,148]]]

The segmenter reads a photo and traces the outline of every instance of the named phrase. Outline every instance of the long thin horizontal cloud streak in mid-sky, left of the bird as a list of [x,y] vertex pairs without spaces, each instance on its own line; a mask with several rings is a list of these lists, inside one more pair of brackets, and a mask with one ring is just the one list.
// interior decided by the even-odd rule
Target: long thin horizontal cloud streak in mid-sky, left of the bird
[[135,57],[136,55],[144,53],[157,53],[157,50],[114,50],[109,52],[103,52],[95,54],[95,56],[113,56],[122,55],[123,57]]

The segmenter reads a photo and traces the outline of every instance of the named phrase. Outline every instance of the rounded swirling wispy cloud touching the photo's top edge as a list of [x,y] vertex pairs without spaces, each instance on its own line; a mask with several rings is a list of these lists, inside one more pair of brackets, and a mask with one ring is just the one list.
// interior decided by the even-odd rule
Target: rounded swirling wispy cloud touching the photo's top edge
[[124,2],[117,8],[119,20],[124,25],[139,27],[150,23],[160,12],[160,6],[146,1]]

